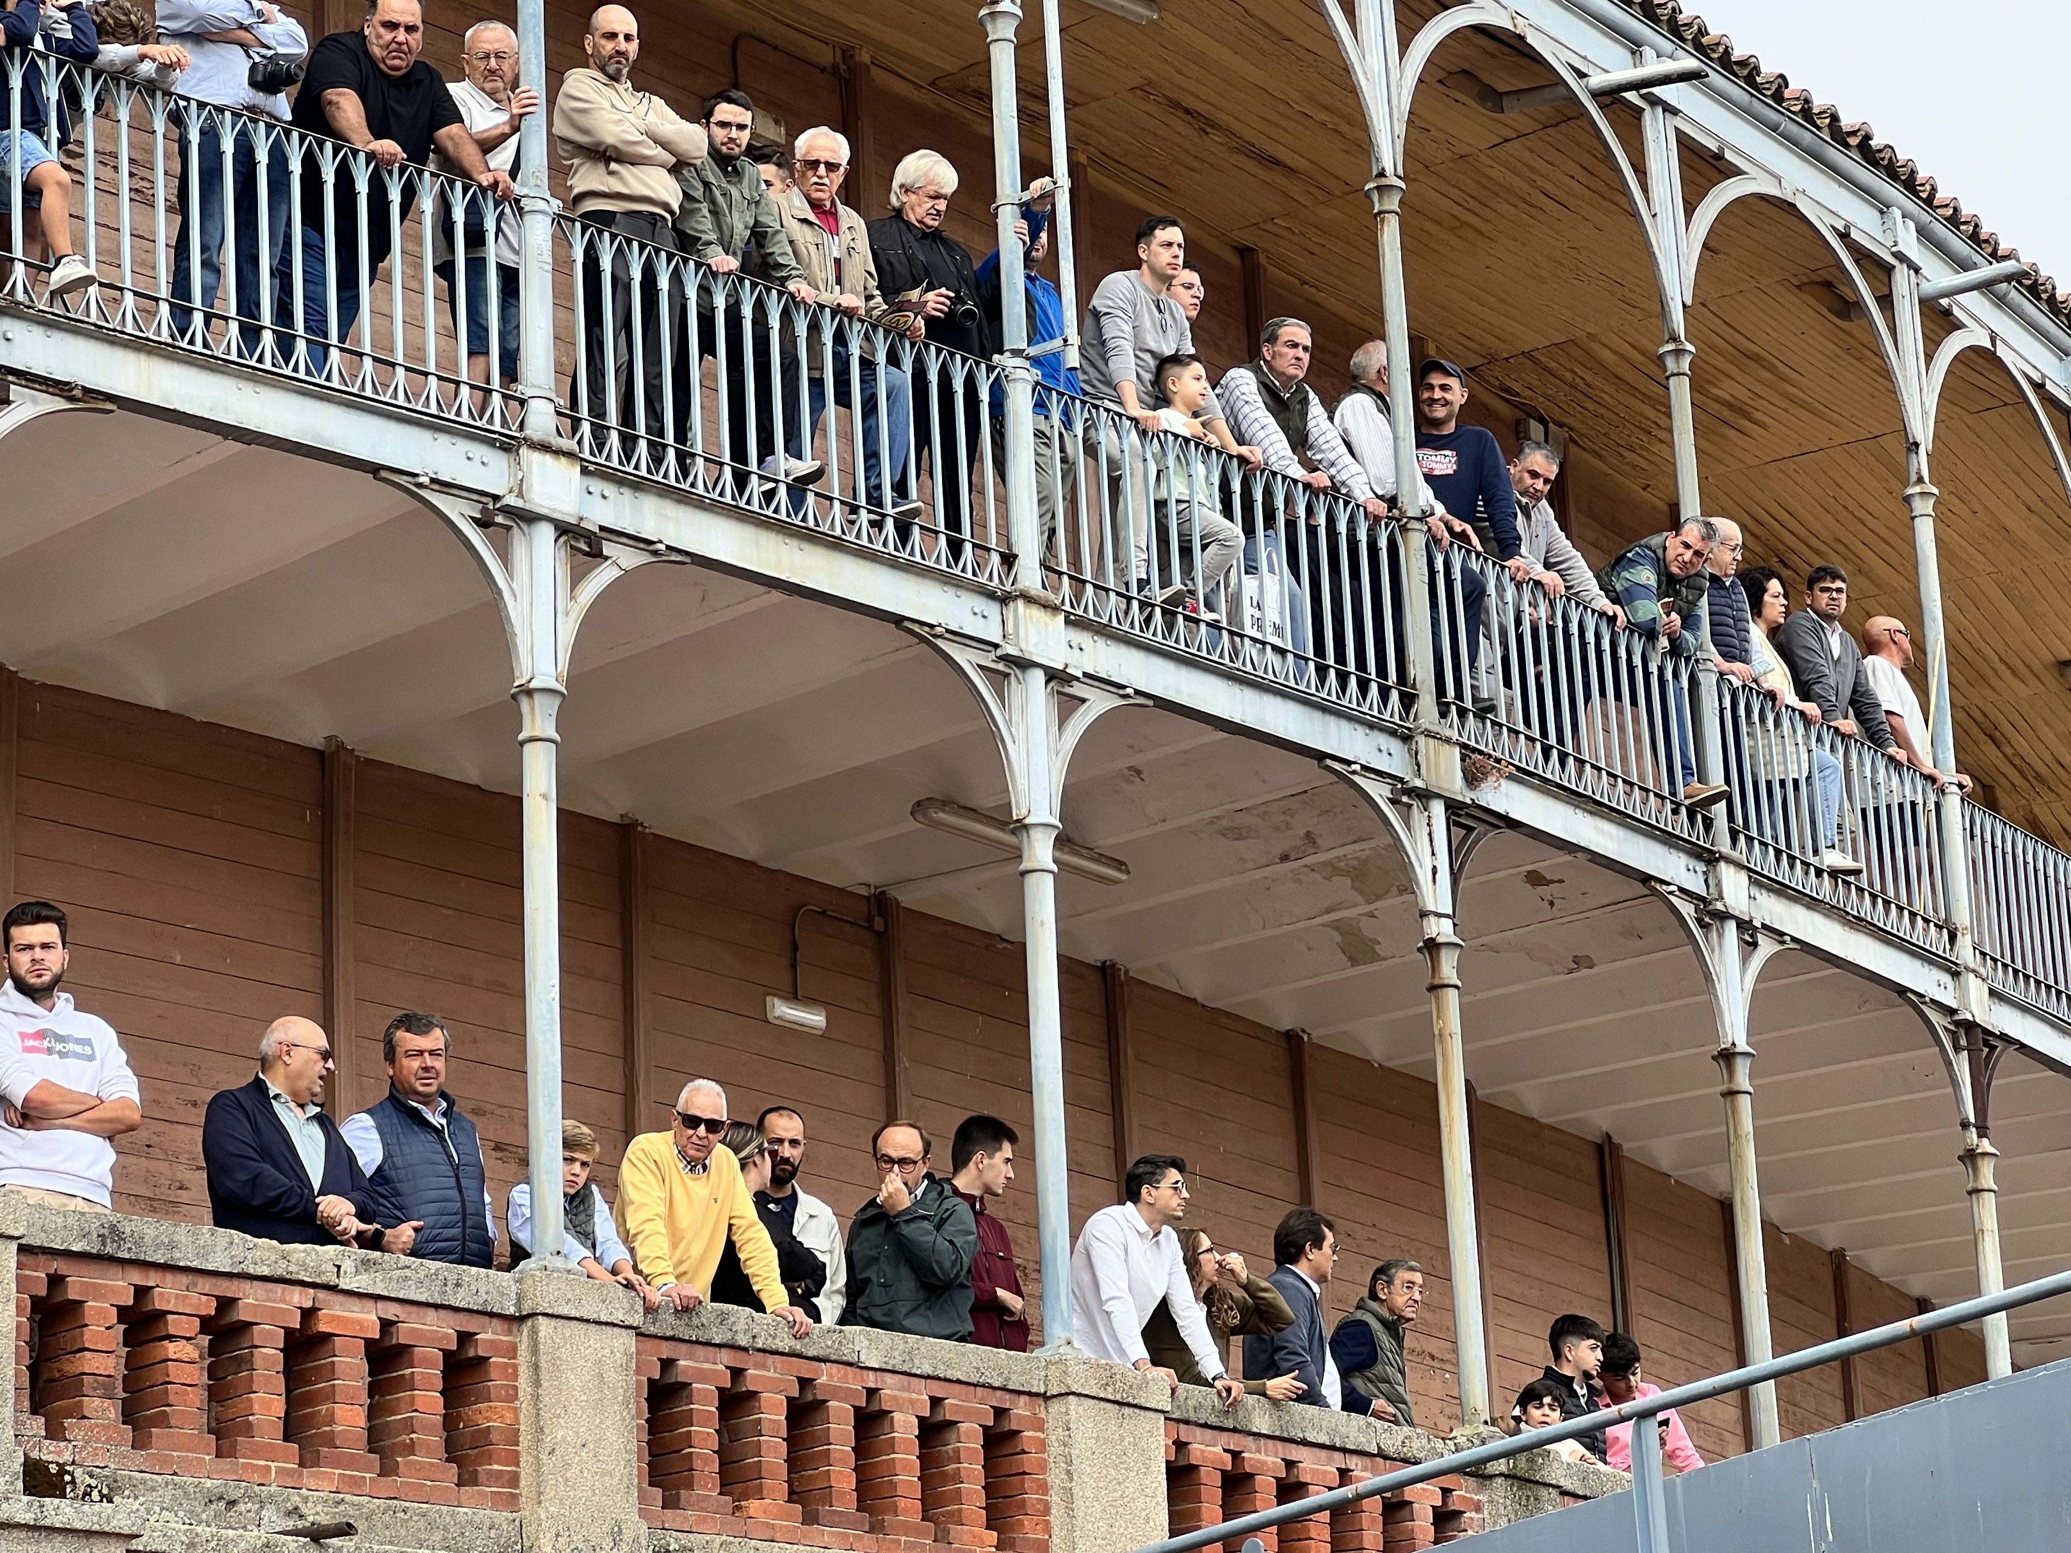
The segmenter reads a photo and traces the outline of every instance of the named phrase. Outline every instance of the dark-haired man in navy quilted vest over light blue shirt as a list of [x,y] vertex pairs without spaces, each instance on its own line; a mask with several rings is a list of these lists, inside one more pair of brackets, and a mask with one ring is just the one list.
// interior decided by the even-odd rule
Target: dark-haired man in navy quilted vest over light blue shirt
[[489,1176],[474,1122],[445,1093],[451,1039],[437,1015],[396,1015],[381,1031],[389,1093],[346,1118],[383,1224],[418,1222],[410,1255],[487,1267],[497,1253]]

